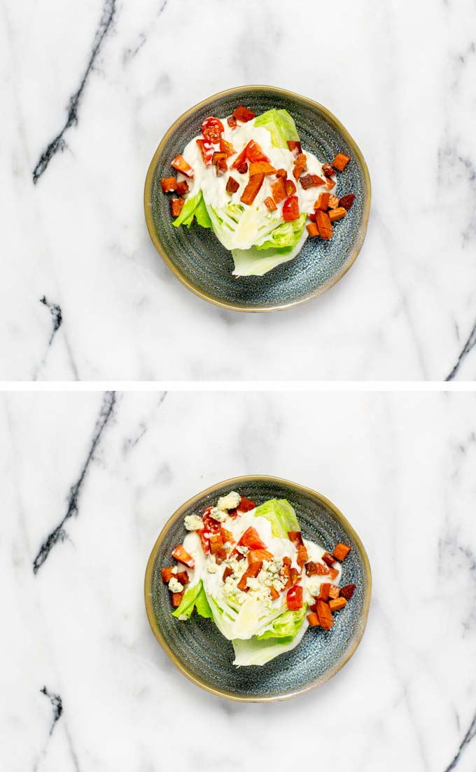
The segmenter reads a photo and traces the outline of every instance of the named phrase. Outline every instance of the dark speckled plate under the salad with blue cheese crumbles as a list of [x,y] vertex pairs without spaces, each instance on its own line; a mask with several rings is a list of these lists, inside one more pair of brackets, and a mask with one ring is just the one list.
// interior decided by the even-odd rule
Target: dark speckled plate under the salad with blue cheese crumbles
[[[308,539],[326,549],[344,542],[352,547],[343,562],[341,584],[356,584],[352,601],[336,615],[330,631],[307,630],[302,641],[262,667],[237,668],[231,642],[209,619],[193,616],[180,621],[171,614],[169,591],[160,568],[170,565],[170,553],[187,533],[184,516],[201,515],[218,496],[237,490],[258,504],[288,499]],[[276,477],[247,476],[218,482],[184,503],[170,517],[154,544],[147,563],[145,602],[157,641],[188,679],[222,697],[244,702],[287,699],[319,686],[346,664],[363,636],[370,604],[370,565],[360,538],[342,513],[324,496],[295,482]]]

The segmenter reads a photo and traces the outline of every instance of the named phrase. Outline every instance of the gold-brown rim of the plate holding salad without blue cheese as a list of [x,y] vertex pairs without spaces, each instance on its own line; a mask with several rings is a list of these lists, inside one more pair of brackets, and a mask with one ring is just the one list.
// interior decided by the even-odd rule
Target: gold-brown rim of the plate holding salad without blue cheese
[[[157,235],[156,230],[154,229],[154,222],[152,218],[152,182],[154,179],[154,173],[155,168],[157,166],[157,159],[160,156],[160,153],[162,152],[162,149],[164,145],[167,143],[169,137],[171,134],[174,133],[175,128],[177,127],[177,124],[181,123],[184,118],[189,116],[191,113],[194,112],[194,110],[198,110],[200,107],[205,107],[208,103],[210,103],[212,100],[218,99],[219,97],[225,97],[233,93],[237,92],[243,92],[243,91],[254,91],[257,89],[265,89],[272,93],[279,93],[284,95],[285,97],[289,98],[298,98],[299,100],[302,100],[306,104],[308,104],[313,109],[321,110],[322,113],[325,113],[326,117],[329,118],[329,120],[333,121],[334,124],[336,124],[336,127],[339,129],[341,134],[343,134],[343,137],[346,139],[347,144],[349,144],[349,147],[352,147],[353,153],[356,157],[356,159],[360,163],[360,167],[363,170],[363,181],[364,181],[364,187],[365,187],[365,193],[366,193],[366,202],[365,207],[363,210],[363,220],[362,224],[360,225],[360,231],[358,234],[358,237],[356,239],[356,244],[354,245],[353,252],[351,253],[349,259],[346,260],[346,263],[343,265],[343,267],[340,269],[339,273],[336,274],[336,276],[333,277],[333,280],[324,287],[319,287],[319,289],[316,289],[315,292],[299,298],[299,300],[292,300],[290,303],[276,303],[272,306],[246,306],[243,303],[232,303],[232,302],[226,302],[224,300],[219,300],[219,298],[214,297],[210,293],[204,292],[204,290],[199,289],[197,286],[194,286],[191,281],[187,279],[186,276],[184,276],[183,273],[179,269],[177,269],[177,266],[174,265],[174,262],[172,262],[167,254],[167,250],[165,249],[163,243],[160,240],[160,236]],[[371,185],[370,185],[370,174],[369,170],[367,168],[367,164],[365,161],[365,158],[363,157],[362,151],[360,150],[360,147],[356,144],[356,141],[351,137],[349,132],[347,131],[346,127],[341,124],[338,118],[331,113],[330,110],[327,109],[327,107],[324,107],[322,104],[319,104],[319,102],[315,102],[314,100],[309,99],[309,97],[303,97],[302,94],[294,93],[292,91],[288,91],[285,89],[280,89],[277,86],[234,86],[231,89],[226,89],[224,91],[219,91],[216,94],[213,94],[211,97],[207,97],[207,99],[202,100],[201,102],[198,102],[193,107],[190,107],[188,110],[186,110],[184,113],[181,114],[177,118],[177,120],[174,120],[174,123],[170,126],[170,128],[166,131],[164,134],[164,137],[160,141],[159,146],[157,147],[157,150],[154,153],[154,156],[152,157],[152,161],[150,161],[149,168],[147,170],[147,176],[146,181],[143,189],[143,208],[147,223],[147,230],[150,235],[150,239],[152,240],[155,249],[157,249],[157,252],[159,253],[160,257],[164,260],[166,265],[170,268],[172,273],[174,273],[174,276],[177,277],[177,279],[187,287],[187,289],[190,289],[191,292],[194,293],[194,295],[197,295],[197,297],[201,297],[202,300],[208,300],[209,303],[213,303],[215,306],[219,306],[220,308],[224,308],[231,311],[240,311],[243,313],[271,313],[272,311],[283,311],[289,308],[294,308],[295,306],[301,306],[302,303],[308,303],[309,300],[314,300],[314,298],[319,297],[319,295],[322,295],[323,293],[327,292],[328,289],[331,289],[342,277],[347,273],[349,268],[353,266],[353,263],[356,261],[356,258],[362,249],[363,242],[366,236],[366,230],[367,230],[367,224],[369,222],[369,215],[370,215],[370,198],[371,198]]]

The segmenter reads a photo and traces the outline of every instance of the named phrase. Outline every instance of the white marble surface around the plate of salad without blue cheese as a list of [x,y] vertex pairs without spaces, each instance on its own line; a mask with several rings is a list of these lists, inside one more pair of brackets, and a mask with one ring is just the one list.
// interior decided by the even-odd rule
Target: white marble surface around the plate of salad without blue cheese
[[[3,0],[0,15],[2,378],[476,378],[473,0]],[[373,181],[355,266],[279,314],[189,293],[143,221],[164,131],[245,83],[333,110]]]

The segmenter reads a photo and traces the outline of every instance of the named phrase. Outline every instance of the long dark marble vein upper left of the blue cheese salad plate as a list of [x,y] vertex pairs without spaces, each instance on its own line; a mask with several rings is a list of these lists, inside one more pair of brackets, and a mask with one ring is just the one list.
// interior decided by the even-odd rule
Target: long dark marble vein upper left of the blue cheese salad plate
[[39,571],[39,569],[42,567],[42,564],[48,558],[49,553],[51,552],[55,544],[58,543],[59,541],[65,540],[66,532],[63,526],[66,523],[66,520],[69,520],[70,517],[73,517],[73,515],[77,515],[78,513],[79,493],[81,492],[83,482],[86,479],[86,473],[89,469],[89,464],[93,460],[94,452],[96,451],[96,448],[100,443],[100,439],[103,434],[103,431],[106,428],[107,423],[110,421],[111,416],[113,415],[115,404],[116,404],[115,392],[106,391],[103,398],[103,404],[101,405],[100,415],[96,421],[96,426],[94,428],[94,433],[93,433],[93,439],[89,447],[89,452],[86,457],[86,461],[83,464],[83,469],[81,469],[79,478],[76,480],[74,485],[69,490],[69,498],[68,498],[68,506],[66,508],[66,514],[63,516],[62,520],[58,523],[56,528],[54,528],[51,531],[51,533],[48,534],[46,539],[42,542],[42,545],[39,548],[38,554],[36,555],[35,560],[33,560],[34,574],[36,574]]

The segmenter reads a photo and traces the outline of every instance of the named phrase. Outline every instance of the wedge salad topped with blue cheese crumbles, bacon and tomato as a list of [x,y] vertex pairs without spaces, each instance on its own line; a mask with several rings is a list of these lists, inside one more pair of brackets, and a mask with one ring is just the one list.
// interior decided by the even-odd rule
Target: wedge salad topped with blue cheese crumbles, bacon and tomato
[[257,506],[235,491],[187,515],[187,535],[161,569],[173,615],[209,618],[235,649],[234,665],[265,665],[291,651],[309,627],[330,630],[333,614],[352,598],[339,587],[350,547],[330,554],[302,537],[286,499]]

